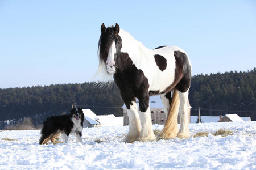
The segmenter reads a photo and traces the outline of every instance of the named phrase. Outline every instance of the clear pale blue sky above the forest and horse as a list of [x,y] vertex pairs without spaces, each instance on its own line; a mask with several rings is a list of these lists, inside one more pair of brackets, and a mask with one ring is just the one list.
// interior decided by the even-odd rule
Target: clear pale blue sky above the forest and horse
[[174,45],[192,74],[256,67],[256,1],[0,1],[0,88],[90,82],[100,26]]

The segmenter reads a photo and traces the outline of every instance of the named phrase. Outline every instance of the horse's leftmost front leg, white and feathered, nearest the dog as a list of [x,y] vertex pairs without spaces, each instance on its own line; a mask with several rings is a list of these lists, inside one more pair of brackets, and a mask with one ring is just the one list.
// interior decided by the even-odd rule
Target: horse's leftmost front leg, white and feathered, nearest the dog
[[[126,105],[127,107],[127,105]],[[141,133],[141,121],[139,120],[138,106],[135,101],[131,101],[129,107],[127,107],[129,118],[129,131],[126,136],[125,142],[133,143]]]

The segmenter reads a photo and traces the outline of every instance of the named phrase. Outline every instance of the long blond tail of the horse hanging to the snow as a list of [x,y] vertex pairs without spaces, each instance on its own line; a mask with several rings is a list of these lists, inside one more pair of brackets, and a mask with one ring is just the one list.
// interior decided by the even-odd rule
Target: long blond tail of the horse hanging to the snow
[[180,97],[179,92],[174,88],[174,93],[172,94],[172,101],[167,114],[166,124],[159,134],[159,138],[175,138],[177,137],[177,114],[179,113],[180,107]]

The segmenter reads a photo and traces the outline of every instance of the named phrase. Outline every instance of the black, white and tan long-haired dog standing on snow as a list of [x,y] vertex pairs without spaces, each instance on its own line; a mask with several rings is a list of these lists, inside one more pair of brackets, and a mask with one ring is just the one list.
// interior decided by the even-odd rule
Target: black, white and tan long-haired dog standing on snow
[[39,144],[46,144],[49,140],[54,142],[59,135],[64,135],[65,142],[68,141],[69,134],[76,134],[76,142],[82,142],[82,128],[84,123],[84,113],[82,108],[72,108],[69,115],[48,117],[43,122],[41,138]]

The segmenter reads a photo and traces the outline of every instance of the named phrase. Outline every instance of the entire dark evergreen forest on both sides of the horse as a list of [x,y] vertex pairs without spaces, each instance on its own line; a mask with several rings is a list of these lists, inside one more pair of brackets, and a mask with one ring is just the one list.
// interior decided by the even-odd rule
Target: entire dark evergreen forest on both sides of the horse
[[[224,116],[236,113],[256,120],[256,67],[192,77],[189,90],[191,115]],[[98,88],[95,82],[0,89],[0,129],[30,118],[37,126],[47,117],[68,114],[72,105],[92,109],[98,115],[123,116],[119,89]]]

